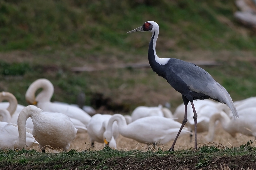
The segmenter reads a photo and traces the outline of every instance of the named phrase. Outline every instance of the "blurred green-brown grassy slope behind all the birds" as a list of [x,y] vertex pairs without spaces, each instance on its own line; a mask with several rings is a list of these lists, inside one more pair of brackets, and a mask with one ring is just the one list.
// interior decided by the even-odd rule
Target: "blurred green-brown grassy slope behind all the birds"
[[48,78],[55,87],[52,101],[76,103],[82,91],[85,104],[101,94],[114,112],[165,102],[173,111],[180,94],[150,68],[71,71],[147,61],[149,33],[126,32],[153,20],[160,26],[159,57],[218,61],[203,68],[233,100],[256,96],[256,31],[235,20],[236,10],[233,0],[2,0],[0,90],[27,105],[28,86]]

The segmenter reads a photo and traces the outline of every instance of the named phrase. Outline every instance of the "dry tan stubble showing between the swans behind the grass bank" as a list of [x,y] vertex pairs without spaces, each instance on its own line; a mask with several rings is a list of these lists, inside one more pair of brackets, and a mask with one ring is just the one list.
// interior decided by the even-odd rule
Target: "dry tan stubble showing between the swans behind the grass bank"
[[[139,131],[138,131],[139,133]],[[242,144],[246,144],[246,142],[248,140],[252,140],[253,144],[252,146],[255,146],[255,137],[252,136],[245,136],[242,134],[236,134],[236,138],[231,137],[231,135],[229,135],[229,133],[227,133],[225,130],[222,129],[221,125],[218,124],[216,126],[216,131],[215,131],[215,136],[214,136],[214,140],[211,143],[207,143],[204,136],[207,134],[207,132],[202,132],[202,133],[198,133],[197,134],[197,143],[198,146],[203,146],[204,144],[210,144],[210,145],[215,145],[215,146],[228,146],[228,147],[238,147]],[[148,146],[148,144],[143,144],[140,142],[137,142],[133,139],[129,139],[126,137],[123,137],[122,135],[120,135],[117,139],[117,148],[118,149],[122,149],[122,150],[140,150],[140,151],[147,151],[148,149],[152,149],[152,146]],[[170,141],[167,144],[164,145],[158,145],[157,147],[160,147],[162,150],[168,150],[171,145],[172,145],[173,141]],[[194,140],[192,142],[190,142],[190,137],[189,135],[184,135],[184,136],[180,136],[176,142],[176,145],[174,147],[175,150],[178,149],[187,149],[187,148],[193,148],[194,147]],[[101,150],[104,148],[104,144],[103,143],[98,143],[95,142],[94,143],[94,147],[91,147],[91,143],[89,140],[89,136],[87,133],[85,134],[77,134],[76,138],[74,141],[72,141],[72,143],[70,144],[70,148],[71,149],[75,149],[77,151],[84,151],[84,150]],[[34,146],[33,149],[36,149],[37,151],[40,151],[39,147]],[[52,152],[52,150],[46,149],[46,152]],[[56,151],[53,151],[56,152]]]

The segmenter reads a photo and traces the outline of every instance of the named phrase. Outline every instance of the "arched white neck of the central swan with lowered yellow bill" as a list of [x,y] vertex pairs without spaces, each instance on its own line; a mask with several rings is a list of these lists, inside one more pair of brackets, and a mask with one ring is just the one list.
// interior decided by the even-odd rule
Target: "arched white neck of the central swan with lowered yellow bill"
[[120,115],[120,114],[115,114],[109,119],[106,131],[109,131],[109,132],[111,132],[111,134],[113,134],[112,133],[112,127],[113,127],[113,123],[115,121],[118,124],[119,133],[121,135],[123,135],[125,133],[127,123],[126,123],[126,120],[125,120],[124,116]]

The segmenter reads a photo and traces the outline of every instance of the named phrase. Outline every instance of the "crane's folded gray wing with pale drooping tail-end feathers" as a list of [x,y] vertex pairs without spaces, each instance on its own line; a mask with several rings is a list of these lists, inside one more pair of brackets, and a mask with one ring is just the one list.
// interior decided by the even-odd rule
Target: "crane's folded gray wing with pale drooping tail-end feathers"
[[172,71],[188,85],[191,91],[206,94],[213,99],[218,99],[221,103],[226,103],[231,109],[234,119],[235,117],[239,118],[236,107],[227,90],[204,69],[193,63],[178,62],[173,64]]

